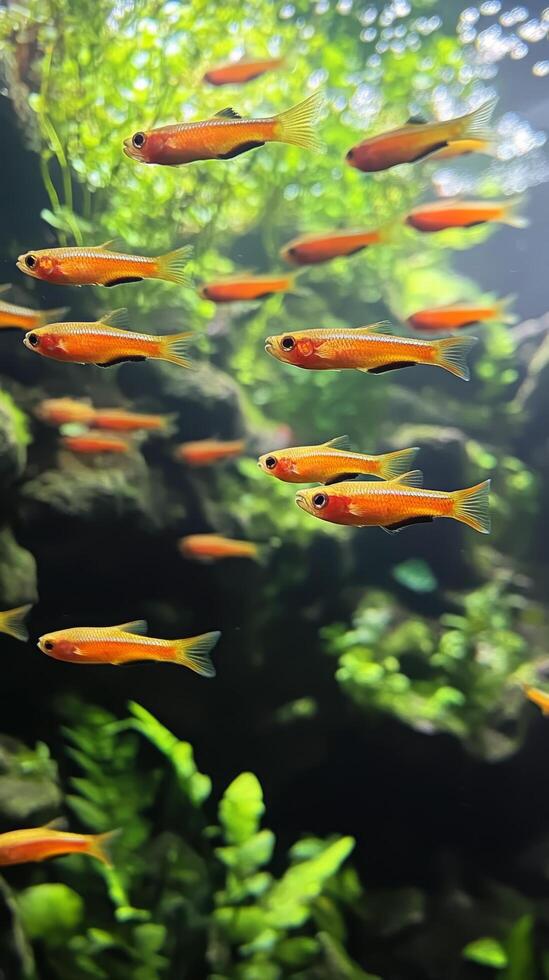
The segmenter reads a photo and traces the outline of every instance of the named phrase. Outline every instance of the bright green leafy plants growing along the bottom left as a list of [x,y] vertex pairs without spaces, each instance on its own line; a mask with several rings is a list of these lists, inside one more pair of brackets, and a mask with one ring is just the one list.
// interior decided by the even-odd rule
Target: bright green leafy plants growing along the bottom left
[[121,833],[113,867],[72,855],[22,890],[5,885],[25,980],[42,966],[59,980],[328,980],[336,961],[338,976],[368,980],[345,952],[345,910],[361,895],[351,837],[301,839],[277,877],[252,773],[230,783],[212,824],[211,780],[150,712],[132,703],[118,721],[68,699],[62,713],[76,768],[66,805],[86,830]]

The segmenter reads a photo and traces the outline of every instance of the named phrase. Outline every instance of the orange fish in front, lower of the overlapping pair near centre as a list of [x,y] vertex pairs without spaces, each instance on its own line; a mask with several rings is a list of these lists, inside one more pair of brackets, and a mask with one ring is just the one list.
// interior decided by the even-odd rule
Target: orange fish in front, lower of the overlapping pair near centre
[[421,472],[412,470],[387,483],[353,480],[328,489],[299,490],[295,500],[302,510],[331,524],[375,526],[393,532],[451,517],[481,534],[489,533],[489,480],[448,493],[421,487]]

